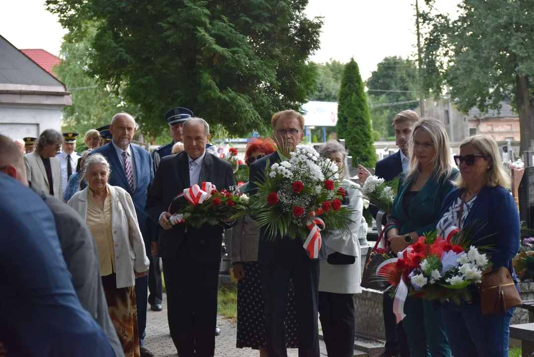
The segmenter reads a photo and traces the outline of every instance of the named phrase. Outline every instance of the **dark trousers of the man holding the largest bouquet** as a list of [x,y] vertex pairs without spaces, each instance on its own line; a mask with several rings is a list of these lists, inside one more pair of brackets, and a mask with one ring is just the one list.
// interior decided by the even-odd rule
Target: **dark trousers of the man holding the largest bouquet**
[[299,261],[261,264],[261,267],[269,357],[287,357],[284,321],[290,278],[293,278],[299,323],[299,357],[319,357],[319,261],[303,255]]

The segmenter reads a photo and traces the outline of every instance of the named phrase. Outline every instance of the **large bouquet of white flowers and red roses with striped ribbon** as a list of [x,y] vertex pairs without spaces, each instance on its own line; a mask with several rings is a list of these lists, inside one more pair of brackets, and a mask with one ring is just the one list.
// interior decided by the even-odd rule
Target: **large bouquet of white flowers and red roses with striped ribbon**
[[352,211],[342,205],[346,192],[333,161],[307,145],[297,145],[289,155],[267,165],[250,207],[257,223],[266,227],[267,239],[301,239],[310,258],[317,258],[321,231],[349,233]]

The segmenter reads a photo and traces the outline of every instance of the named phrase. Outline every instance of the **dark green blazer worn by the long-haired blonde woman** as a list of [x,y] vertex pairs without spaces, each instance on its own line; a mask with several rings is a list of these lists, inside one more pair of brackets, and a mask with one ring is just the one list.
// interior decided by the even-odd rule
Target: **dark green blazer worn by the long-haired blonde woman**
[[395,202],[393,203],[393,208],[389,216],[390,221],[398,221],[400,226],[395,223],[390,228],[397,228],[399,234],[417,232],[418,236],[435,231],[438,220],[441,217],[439,211],[441,210],[442,203],[445,201],[447,194],[454,189],[451,181],[457,175],[458,170],[453,169],[451,176],[446,179],[444,176],[431,176],[421,188],[421,191],[413,197],[406,212],[403,204],[404,194],[406,191],[409,191],[414,178],[412,177],[405,181],[406,173],[403,173],[399,180],[397,197],[395,197]]

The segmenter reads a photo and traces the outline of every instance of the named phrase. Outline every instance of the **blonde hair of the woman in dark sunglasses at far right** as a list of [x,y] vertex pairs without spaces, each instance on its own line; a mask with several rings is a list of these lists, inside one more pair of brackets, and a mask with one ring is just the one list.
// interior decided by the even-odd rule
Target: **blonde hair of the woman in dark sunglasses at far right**
[[[486,186],[502,186],[507,188],[510,185],[510,178],[502,167],[497,141],[492,137],[474,135],[462,141],[460,149],[469,144],[476,147],[482,155],[488,156],[490,169],[488,170],[488,174],[486,174]],[[454,181],[454,185],[462,188],[467,187],[467,183],[461,175],[458,175],[458,178]]]

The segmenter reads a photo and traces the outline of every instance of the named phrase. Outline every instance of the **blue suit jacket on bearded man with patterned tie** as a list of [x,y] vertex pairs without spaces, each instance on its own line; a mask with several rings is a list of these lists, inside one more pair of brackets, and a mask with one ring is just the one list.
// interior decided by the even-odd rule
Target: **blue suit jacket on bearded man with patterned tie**
[[[154,240],[153,235],[151,235],[151,229],[147,225],[148,216],[145,212],[146,204],[146,195],[148,193],[148,186],[152,184],[154,179],[154,170],[152,169],[152,158],[150,153],[147,150],[139,147],[130,145],[132,150],[133,160],[135,161],[135,172],[136,172],[136,185],[135,191],[132,193],[130,185],[128,184],[128,179],[126,178],[126,173],[124,172],[124,167],[119,159],[119,155],[115,150],[115,147],[111,142],[103,145],[92,152],[89,155],[99,153],[106,157],[109,165],[111,166],[111,174],[109,175],[108,184],[112,186],[119,186],[124,188],[132,197],[133,205],[135,205],[135,211],[137,213],[137,222],[139,223],[139,229],[143,234],[143,240],[145,245],[148,245],[151,241]],[[149,253],[150,250],[147,251]]]

